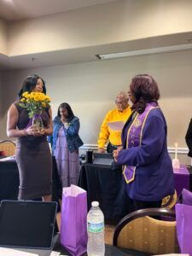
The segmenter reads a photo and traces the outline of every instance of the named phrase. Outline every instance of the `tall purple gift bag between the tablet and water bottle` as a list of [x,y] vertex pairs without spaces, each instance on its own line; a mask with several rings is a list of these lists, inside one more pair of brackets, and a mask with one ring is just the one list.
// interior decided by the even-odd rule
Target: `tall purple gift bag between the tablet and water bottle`
[[87,192],[78,186],[63,188],[61,245],[74,256],[87,251]]

